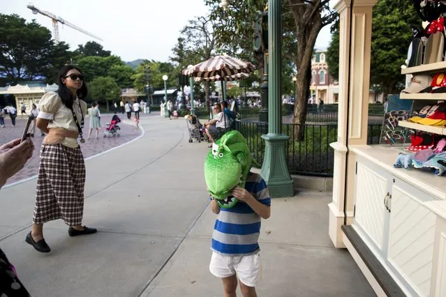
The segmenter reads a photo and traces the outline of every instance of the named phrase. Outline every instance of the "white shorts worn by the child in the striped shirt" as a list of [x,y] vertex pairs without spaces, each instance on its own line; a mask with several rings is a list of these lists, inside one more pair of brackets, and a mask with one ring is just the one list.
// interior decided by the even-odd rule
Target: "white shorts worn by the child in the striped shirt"
[[248,287],[255,287],[262,280],[262,261],[260,253],[247,256],[225,256],[212,252],[209,271],[216,277],[230,277],[237,274],[240,282]]

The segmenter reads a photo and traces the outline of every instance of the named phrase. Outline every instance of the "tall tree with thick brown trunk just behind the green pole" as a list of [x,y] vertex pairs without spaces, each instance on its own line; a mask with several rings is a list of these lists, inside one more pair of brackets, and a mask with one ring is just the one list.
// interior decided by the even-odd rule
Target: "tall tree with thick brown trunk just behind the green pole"
[[[260,10],[266,3],[262,0],[231,0],[227,12],[223,12],[223,9],[218,6],[218,0],[205,0],[205,2],[211,6],[211,15],[225,24],[216,29],[216,36],[218,39],[226,36],[228,44],[232,44],[228,36],[252,40],[253,31],[247,28],[255,20],[255,10]],[[294,122],[305,123],[306,102],[311,82],[311,58],[315,41],[320,30],[336,20],[338,14],[329,8],[329,0],[287,0],[281,3],[283,6],[283,48],[286,49],[282,54],[297,68],[297,102]],[[290,32],[291,29],[294,29],[294,34]],[[303,139],[304,130],[299,127],[296,129],[295,136],[297,139]]]

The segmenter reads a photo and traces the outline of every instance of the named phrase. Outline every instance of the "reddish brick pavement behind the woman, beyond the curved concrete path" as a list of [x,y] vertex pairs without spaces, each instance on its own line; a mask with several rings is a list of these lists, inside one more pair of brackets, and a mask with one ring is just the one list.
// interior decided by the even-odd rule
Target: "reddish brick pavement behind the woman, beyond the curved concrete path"
[[[146,117],[146,116],[155,116],[159,113],[151,113],[151,114],[141,114],[140,117]],[[91,157],[92,155],[96,155],[98,153],[101,153],[103,151],[107,151],[110,148],[114,148],[116,146],[120,146],[121,144],[125,144],[126,142],[131,141],[132,139],[135,139],[141,134],[140,130],[137,130],[135,127],[135,123],[133,121],[128,122],[126,114],[119,114],[119,117],[121,118],[121,121],[126,121],[127,123],[119,123],[119,127],[121,128],[121,137],[103,137],[103,131],[105,128],[105,123],[110,123],[110,120],[112,119],[112,114],[103,114],[101,116],[101,125],[102,128],[99,131],[98,139],[94,139],[94,133],[93,131],[92,138],[90,140],[87,140],[84,144],[81,145],[82,153],[84,154],[84,158]],[[8,116],[5,116],[5,124],[6,128],[0,128],[0,144],[5,144],[6,142],[10,142],[13,139],[17,139],[22,137],[22,132],[24,129],[24,126],[26,124],[26,118],[22,116],[17,116],[17,121],[15,128],[12,127],[11,121]],[[133,119],[133,118],[132,118]],[[90,121],[87,117],[85,119],[85,128],[84,130],[84,138],[87,138],[88,131],[89,131],[89,125]],[[17,172],[15,176],[8,179],[8,183],[14,183],[16,181],[20,181],[24,178],[29,178],[31,176],[34,176],[38,173],[38,163],[39,163],[39,151],[40,146],[42,144],[43,137],[40,136],[40,131],[36,129],[35,137],[33,138],[34,146],[36,149],[34,150],[34,154],[32,158],[27,162],[25,167],[20,170],[20,172]]]

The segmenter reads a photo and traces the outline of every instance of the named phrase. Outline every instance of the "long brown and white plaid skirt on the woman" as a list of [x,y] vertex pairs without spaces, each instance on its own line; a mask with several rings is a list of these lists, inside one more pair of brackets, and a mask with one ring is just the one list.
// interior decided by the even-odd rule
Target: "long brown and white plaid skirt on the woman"
[[63,219],[68,226],[82,224],[85,164],[80,147],[42,144],[33,222]]

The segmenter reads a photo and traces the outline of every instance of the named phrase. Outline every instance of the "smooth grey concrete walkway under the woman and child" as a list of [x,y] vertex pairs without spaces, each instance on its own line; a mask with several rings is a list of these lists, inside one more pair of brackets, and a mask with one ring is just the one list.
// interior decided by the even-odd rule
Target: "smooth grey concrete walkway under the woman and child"
[[[24,243],[36,181],[0,190],[0,246],[32,296],[223,295],[208,270],[216,217],[203,178],[207,144],[188,143],[184,119],[141,124],[143,137],[86,161],[84,224],[98,234],[70,238],[63,222],[50,222],[52,252],[40,254]],[[330,200],[301,192],[272,201],[259,296],[374,296],[350,254],[329,241]]]

